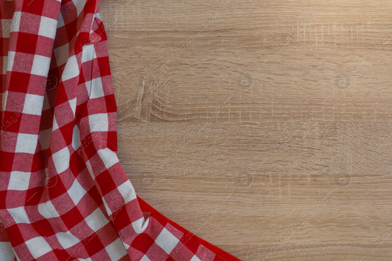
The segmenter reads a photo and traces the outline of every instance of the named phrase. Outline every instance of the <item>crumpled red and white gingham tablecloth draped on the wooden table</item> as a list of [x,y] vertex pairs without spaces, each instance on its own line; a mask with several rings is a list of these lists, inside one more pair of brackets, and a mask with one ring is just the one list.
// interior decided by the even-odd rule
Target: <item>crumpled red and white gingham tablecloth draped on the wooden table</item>
[[0,0],[0,261],[238,261],[136,196],[99,2]]

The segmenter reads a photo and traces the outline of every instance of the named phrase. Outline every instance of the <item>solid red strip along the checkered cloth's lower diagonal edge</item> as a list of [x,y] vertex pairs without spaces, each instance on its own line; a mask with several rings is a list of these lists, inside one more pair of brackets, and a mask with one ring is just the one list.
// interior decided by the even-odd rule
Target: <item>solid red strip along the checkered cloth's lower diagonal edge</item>
[[176,229],[178,229],[181,232],[183,232],[184,235],[191,235],[189,240],[196,241],[197,243],[199,243],[199,244],[203,245],[204,247],[208,248],[209,250],[214,252],[217,256],[221,257],[222,259],[224,259],[226,261],[241,261],[237,257],[234,257],[231,254],[227,253],[226,251],[222,250],[221,248],[218,248],[218,247],[212,245],[211,243],[205,241],[204,239],[199,238],[198,236],[196,236],[192,232],[188,231],[187,229],[185,229],[185,228],[181,227],[180,225],[178,225],[177,223],[175,223],[174,221],[172,221],[169,218],[163,216],[159,211],[157,211],[156,209],[151,207],[151,205],[149,205],[147,202],[142,200],[139,196],[136,195],[136,198],[138,199],[138,202],[139,202],[139,205],[140,205],[140,209],[142,209],[143,212],[151,212],[151,214],[159,216],[163,220],[167,221],[167,223],[171,224],[173,227],[175,227]]

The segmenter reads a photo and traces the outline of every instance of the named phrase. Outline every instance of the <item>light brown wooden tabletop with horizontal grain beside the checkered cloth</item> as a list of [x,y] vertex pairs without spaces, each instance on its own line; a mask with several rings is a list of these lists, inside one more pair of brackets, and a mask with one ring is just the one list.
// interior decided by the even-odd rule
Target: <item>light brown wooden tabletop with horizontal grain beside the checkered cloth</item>
[[243,261],[390,261],[391,10],[103,0],[136,193]]

